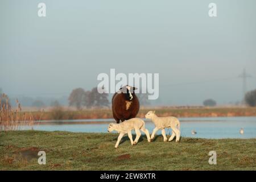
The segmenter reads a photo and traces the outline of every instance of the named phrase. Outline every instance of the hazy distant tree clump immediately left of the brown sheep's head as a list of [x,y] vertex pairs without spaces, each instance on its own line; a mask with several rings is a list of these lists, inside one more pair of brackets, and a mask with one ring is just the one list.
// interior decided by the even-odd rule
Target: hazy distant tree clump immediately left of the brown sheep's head
[[94,87],[91,91],[85,93],[84,105],[86,107],[109,106],[108,96],[108,93],[98,93],[97,87]]

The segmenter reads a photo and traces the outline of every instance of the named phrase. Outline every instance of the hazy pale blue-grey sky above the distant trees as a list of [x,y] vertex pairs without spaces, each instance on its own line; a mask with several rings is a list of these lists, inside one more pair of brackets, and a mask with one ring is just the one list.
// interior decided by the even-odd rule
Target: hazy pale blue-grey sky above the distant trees
[[110,68],[159,73],[162,104],[239,101],[243,68],[256,89],[255,0],[1,0],[0,23],[0,88],[10,96],[88,90]]

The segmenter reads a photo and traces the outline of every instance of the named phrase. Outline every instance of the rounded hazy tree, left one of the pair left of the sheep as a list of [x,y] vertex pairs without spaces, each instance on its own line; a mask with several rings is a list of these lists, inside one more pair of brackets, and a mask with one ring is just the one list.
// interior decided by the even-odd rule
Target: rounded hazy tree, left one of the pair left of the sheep
[[77,88],[72,90],[68,100],[69,106],[76,106],[77,109],[82,108],[82,104],[85,98],[85,90],[82,88]]

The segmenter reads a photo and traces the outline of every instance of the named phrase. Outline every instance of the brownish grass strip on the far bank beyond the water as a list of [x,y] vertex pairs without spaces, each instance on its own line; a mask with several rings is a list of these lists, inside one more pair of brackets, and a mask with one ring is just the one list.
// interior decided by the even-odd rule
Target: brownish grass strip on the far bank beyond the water
[[[141,108],[137,117],[143,118],[149,110],[156,110],[159,116],[175,117],[237,117],[237,116],[256,116],[256,107],[197,107],[197,108]],[[40,111],[31,112],[35,120],[53,120],[53,119],[106,119],[113,118],[111,109],[85,109],[85,110],[61,110],[45,111],[42,115]],[[20,113],[22,114],[22,113]]]

